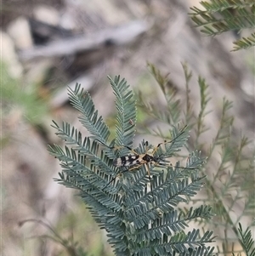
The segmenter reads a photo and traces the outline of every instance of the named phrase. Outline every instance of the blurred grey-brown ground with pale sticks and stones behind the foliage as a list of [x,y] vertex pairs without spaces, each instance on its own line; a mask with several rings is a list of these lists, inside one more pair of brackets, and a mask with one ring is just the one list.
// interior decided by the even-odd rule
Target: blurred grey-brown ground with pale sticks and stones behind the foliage
[[[113,255],[105,232],[76,191],[53,180],[60,167],[47,145],[62,142],[54,135],[52,120],[70,122],[88,135],[68,102],[67,87],[74,88],[76,82],[89,91],[99,114],[114,128],[108,75],[125,77],[135,92],[160,106],[162,95],[147,61],[170,74],[180,100],[185,63],[193,73],[190,95],[197,111],[198,76],[209,84],[212,114],[206,120],[210,129],[205,142],[217,132],[223,97],[234,102],[235,133],[254,139],[254,49],[230,52],[235,32],[204,37],[188,15],[194,5],[199,7],[198,1],[3,1],[3,255],[75,255],[72,246],[89,255]],[[134,144],[144,137],[138,134]]]

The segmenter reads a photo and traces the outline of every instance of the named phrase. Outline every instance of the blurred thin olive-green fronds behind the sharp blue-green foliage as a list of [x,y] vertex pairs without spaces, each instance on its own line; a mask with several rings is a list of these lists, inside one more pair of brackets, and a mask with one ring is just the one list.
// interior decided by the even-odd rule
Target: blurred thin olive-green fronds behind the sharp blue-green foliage
[[[150,66],[153,66],[150,64]],[[207,116],[210,117],[211,110],[208,110],[208,102],[210,100],[208,93],[208,85],[205,80],[199,77],[198,86],[201,93],[201,110],[198,114],[192,109],[190,104],[190,77],[191,72],[186,65],[184,66],[184,74],[186,77],[186,95],[185,103],[179,105],[174,111],[182,111],[186,109],[184,113],[185,117],[188,117],[187,125],[195,131],[195,140],[192,145],[188,145],[191,150],[193,148],[202,152],[207,152],[207,165],[201,168],[201,173],[207,175],[205,179],[205,190],[203,191],[203,199],[199,202],[209,204],[212,206],[213,213],[216,214],[215,218],[207,219],[207,224],[212,225],[214,230],[219,230],[220,236],[218,241],[223,243],[223,249],[219,250],[219,253],[235,253],[230,251],[227,243],[239,242],[239,222],[246,221],[245,218],[252,219],[255,212],[254,201],[254,163],[255,163],[255,150],[250,141],[245,136],[236,138],[236,134],[233,133],[234,117],[229,114],[232,108],[232,102],[223,99],[221,117],[218,124],[218,132],[212,138],[212,143],[208,147],[204,143],[202,136],[208,132],[208,128],[205,122]],[[157,74],[156,81],[161,82],[164,75],[161,75],[160,71],[155,71],[153,67],[152,74]],[[161,76],[161,78],[158,78]],[[164,80],[165,86],[171,84]],[[163,83],[159,85],[162,88]],[[174,85],[173,85],[174,87]],[[167,88],[162,90],[164,94],[168,94]],[[171,97],[165,95],[166,99]],[[176,99],[173,99],[176,100]],[[139,105],[143,111],[148,110],[151,116],[157,115],[157,110],[150,108],[147,104],[144,104],[144,99],[139,101]],[[172,105],[174,102],[172,102]],[[161,122],[166,124],[172,123],[172,113],[165,110],[165,113],[161,113]],[[169,117],[170,116],[170,117]],[[176,117],[173,113],[173,117]],[[207,117],[208,118],[208,117]],[[177,120],[180,122],[180,120]],[[150,129],[148,129],[150,131]],[[155,131],[150,131],[150,134],[155,134]],[[203,143],[201,143],[201,141]],[[252,152],[251,152],[252,151]],[[218,156],[221,156],[218,158]],[[216,161],[217,159],[217,161]],[[197,202],[195,197],[190,198],[191,201]],[[224,232],[222,232],[224,230]],[[233,237],[231,240],[229,237]]]

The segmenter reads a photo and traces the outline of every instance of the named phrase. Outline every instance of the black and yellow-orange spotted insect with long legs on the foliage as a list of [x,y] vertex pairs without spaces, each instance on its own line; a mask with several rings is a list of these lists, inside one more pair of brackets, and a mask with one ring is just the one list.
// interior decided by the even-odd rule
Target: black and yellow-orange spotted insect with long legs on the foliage
[[[100,142],[101,144],[107,146],[110,149],[120,149],[120,148],[127,148],[129,151],[131,151],[133,154],[127,155],[127,156],[121,156],[118,158],[115,158],[112,162],[112,164],[114,166],[116,166],[117,168],[126,168],[126,169],[122,169],[122,171],[116,175],[116,177],[120,174],[123,174],[127,171],[133,171],[135,169],[140,168],[141,166],[144,165],[144,167],[146,168],[147,174],[149,176],[150,179],[150,164],[154,165],[154,166],[166,166],[166,163],[168,163],[166,160],[164,160],[163,155],[157,155],[156,156],[156,151],[158,151],[158,149],[160,148],[161,145],[166,145],[169,143],[173,143],[174,140],[178,139],[178,137],[180,137],[182,134],[184,134],[184,130],[185,130],[186,126],[180,131],[180,133],[172,140],[170,141],[164,141],[159,143],[158,145],[156,145],[156,147],[154,149],[149,149],[149,143],[148,141],[145,142],[145,146],[146,146],[146,151],[144,154],[139,154],[136,151],[134,151],[132,148],[130,148],[127,145],[121,145],[121,146],[117,146],[117,147],[109,147],[107,145],[105,145],[105,143]],[[110,180],[110,182],[107,184],[111,184],[112,181],[114,181],[116,179],[116,177],[112,178]],[[106,185],[106,186],[107,186]],[[151,185],[151,179],[150,179],[150,187],[151,187],[151,194],[153,195],[153,191],[152,191],[152,185]]]

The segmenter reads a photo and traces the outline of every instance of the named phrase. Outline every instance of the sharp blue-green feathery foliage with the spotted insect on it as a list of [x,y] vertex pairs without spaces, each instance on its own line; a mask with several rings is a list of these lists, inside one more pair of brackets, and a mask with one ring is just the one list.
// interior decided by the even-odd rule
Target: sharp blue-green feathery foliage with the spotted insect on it
[[[110,82],[117,110],[116,139],[110,145],[116,142],[117,146],[133,147],[136,122],[133,91],[120,77],[110,78]],[[185,230],[190,221],[212,218],[212,208],[206,204],[190,209],[179,206],[180,202],[190,202],[190,197],[201,190],[206,176],[199,170],[205,157],[200,151],[191,152],[184,168],[179,162],[173,167],[167,161],[185,145],[188,129],[170,130],[172,143],[155,152],[156,159],[163,162],[160,165],[143,164],[133,171],[128,171],[128,167],[116,168],[113,159],[126,156],[127,148],[112,150],[107,146],[109,128],[80,85],[74,91],[70,89],[69,95],[72,105],[82,113],[79,120],[91,136],[82,139],[82,133],[70,124],[63,122],[59,126],[54,122],[56,134],[65,140],[64,149],[59,145],[48,146],[62,167],[56,180],[79,191],[99,227],[108,232],[108,241],[116,255],[212,255],[213,247],[207,246],[215,238],[212,231]],[[150,144],[148,147],[153,148]],[[148,147],[143,140],[134,151],[144,154]],[[122,175],[112,180],[117,174]]]

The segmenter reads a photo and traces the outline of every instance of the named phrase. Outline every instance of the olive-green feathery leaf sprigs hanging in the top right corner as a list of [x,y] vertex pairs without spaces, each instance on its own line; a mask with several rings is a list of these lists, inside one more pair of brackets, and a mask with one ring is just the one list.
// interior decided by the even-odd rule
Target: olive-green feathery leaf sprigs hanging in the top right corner
[[[255,27],[255,2],[252,0],[213,0],[201,2],[205,10],[190,8],[191,20],[196,26],[202,26],[201,32],[207,36],[216,36],[225,31],[241,31]],[[234,50],[255,46],[255,35],[242,37],[235,43]]]

